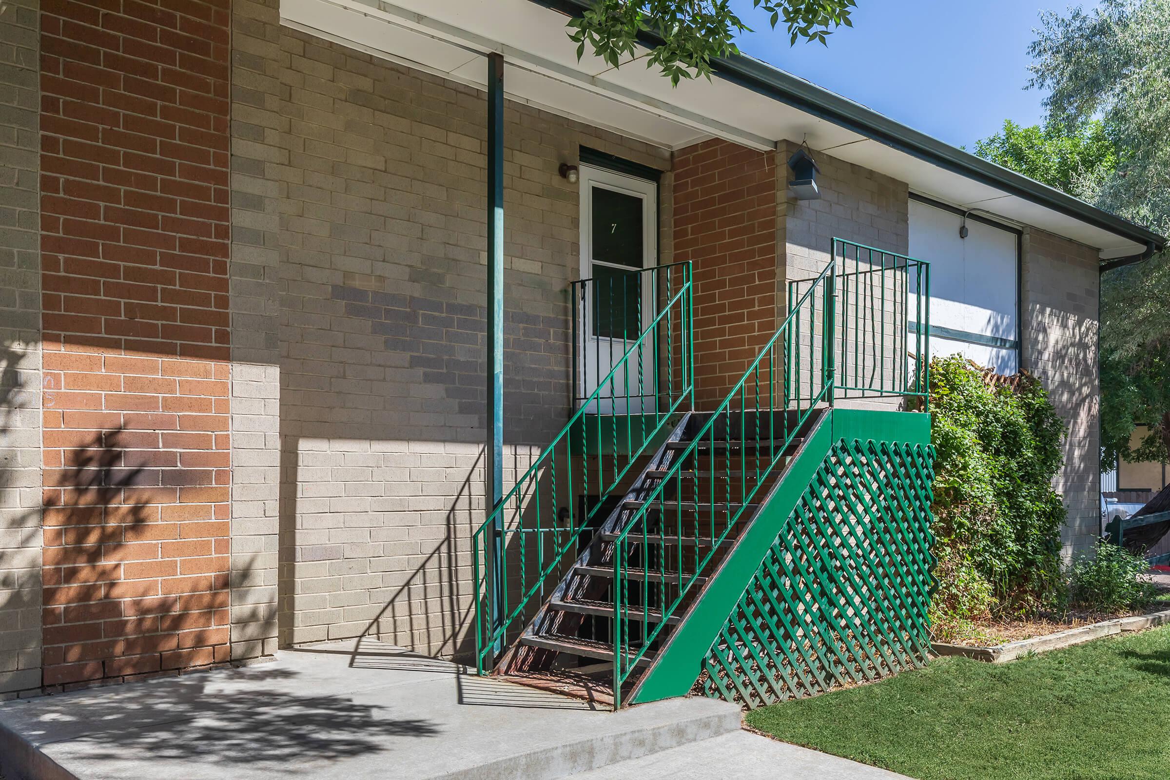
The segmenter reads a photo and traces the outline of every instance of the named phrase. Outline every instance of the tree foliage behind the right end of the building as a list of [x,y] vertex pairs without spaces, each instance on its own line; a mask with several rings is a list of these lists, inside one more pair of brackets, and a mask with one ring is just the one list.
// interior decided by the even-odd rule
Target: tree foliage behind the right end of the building
[[[1042,12],[1028,51],[1030,85],[1049,90],[1045,124],[1005,125],[976,152],[1163,235],[1170,232],[1170,0],[1102,0],[1094,9]],[[1103,468],[1119,456],[1164,457],[1170,447],[1168,351],[1166,254],[1106,272]],[[1130,450],[1135,422],[1151,430]]]

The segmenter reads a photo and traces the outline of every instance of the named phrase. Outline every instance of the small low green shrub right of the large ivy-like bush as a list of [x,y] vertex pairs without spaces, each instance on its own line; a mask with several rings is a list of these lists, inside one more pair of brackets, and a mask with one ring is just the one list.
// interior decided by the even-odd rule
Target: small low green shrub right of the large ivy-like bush
[[1069,567],[1068,595],[1073,606],[1095,612],[1136,609],[1158,593],[1148,572],[1149,564],[1141,555],[1100,541],[1095,557],[1080,558]]

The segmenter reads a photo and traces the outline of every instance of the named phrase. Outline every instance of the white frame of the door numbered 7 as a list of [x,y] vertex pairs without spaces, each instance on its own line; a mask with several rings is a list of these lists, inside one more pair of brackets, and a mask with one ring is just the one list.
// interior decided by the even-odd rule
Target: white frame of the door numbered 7
[[[600,187],[604,189],[612,189],[614,192],[620,192],[625,195],[632,195],[642,200],[642,268],[653,268],[658,265],[658,182],[651,181],[649,179],[639,179],[636,177],[629,177],[624,173],[618,173],[615,171],[610,171],[606,168],[594,167],[591,165],[580,165],[579,181],[580,181],[580,277],[583,279],[593,278],[593,267],[594,265],[606,265],[610,268],[631,270],[627,265],[620,265],[614,263],[607,263],[601,260],[593,258],[593,188]],[[647,327],[653,319],[654,311],[654,284],[653,279],[649,277],[652,274],[642,274],[642,327]],[[597,382],[604,379],[606,374],[613,368],[613,365],[621,359],[626,348],[631,346],[631,341],[636,339],[640,333],[631,334],[631,339],[625,343],[620,338],[610,337],[598,337],[593,334],[593,305],[592,301],[585,301],[584,305],[580,308],[580,333],[581,333],[581,354],[578,356],[578,370],[583,378],[583,387],[579,394],[584,398],[590,395],[596,388]],[[649,377],[649,387],[653,388],[653,375],[655,366],[648,365],[653,363],[654,350],[651,345],[649,350],[642,347],[646,356],[642,360],[642,365],[648,370],[647,375]],[[625,380],[624,377],[614,377],[614,395],[624,396]],[[632,388],[636,391],[636,388]],[[642,393],[646,388],[642,388]],[[613,402],[610,401],[608,394],[606,398],[598,398],[598,408],[592,409],[600,414],[610,414],[611,412],[621,413],[625,410],[625,398],[615,399]],[[577,401],[580,402],[579,400]],[[642,403],[635,403],[631,399],[631,412],[636,410],[644,406]],[[651,412],[653,409],[653,403],[647,401],[645,403],[646,410]]]

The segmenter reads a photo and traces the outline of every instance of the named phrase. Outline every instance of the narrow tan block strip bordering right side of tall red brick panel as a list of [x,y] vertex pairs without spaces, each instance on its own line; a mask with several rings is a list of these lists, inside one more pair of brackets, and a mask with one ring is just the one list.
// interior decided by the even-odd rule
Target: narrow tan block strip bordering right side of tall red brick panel
[[276,649],[280,0],[232,4],[232,657]]

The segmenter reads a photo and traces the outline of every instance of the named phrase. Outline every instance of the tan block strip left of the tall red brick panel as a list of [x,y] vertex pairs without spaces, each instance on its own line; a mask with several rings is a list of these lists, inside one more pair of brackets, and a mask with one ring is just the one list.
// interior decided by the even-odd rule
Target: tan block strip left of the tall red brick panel
[[0,699],[41,684],[37,0],[0,16]]

